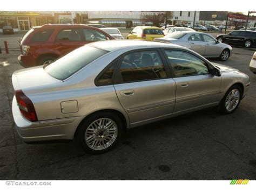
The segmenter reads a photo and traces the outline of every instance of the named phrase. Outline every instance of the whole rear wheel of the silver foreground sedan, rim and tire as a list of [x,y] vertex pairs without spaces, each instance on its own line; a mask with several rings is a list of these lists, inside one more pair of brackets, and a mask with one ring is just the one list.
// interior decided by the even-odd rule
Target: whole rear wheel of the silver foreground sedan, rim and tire
[[111,150],[122,135],[121,119],[112,112],[98,112],[80,125],[77,138],[86,152],[101,154]]

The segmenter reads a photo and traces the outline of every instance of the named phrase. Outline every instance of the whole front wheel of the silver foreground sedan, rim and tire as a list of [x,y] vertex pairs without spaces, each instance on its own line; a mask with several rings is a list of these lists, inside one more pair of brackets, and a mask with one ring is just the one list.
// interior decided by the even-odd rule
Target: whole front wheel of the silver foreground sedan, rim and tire
[[220,102],[220,112],[222,114],[231,114],[234,112],[240,103],[242,90],[240,86],[234,85],[227,90],[227,93]]

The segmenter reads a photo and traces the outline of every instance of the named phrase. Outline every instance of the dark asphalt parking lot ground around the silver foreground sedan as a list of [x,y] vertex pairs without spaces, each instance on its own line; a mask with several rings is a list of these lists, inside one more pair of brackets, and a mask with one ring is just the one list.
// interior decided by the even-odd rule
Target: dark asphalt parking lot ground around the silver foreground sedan
[[101,155],[84,153],[75,142],[22,142],[11,114],[11,75],[23,67],[18,51],[0,54],[0,179],[255,180],[256,75],[248,68],[254,51],[234,47],[227,61],[211,60],[251,78],[248,96],[233,114],[210,108],[140,126]]

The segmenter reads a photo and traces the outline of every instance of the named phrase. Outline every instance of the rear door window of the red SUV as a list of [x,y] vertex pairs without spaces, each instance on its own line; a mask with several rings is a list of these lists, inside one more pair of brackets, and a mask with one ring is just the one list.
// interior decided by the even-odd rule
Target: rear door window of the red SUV
[[64,29],[57,35],[58,41],[82,41],[79,29]]

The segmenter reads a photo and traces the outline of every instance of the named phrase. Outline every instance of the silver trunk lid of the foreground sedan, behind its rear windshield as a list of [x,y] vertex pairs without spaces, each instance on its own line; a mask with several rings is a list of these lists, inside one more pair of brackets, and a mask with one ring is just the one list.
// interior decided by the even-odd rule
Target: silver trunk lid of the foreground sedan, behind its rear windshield
[[17,70],[12,74],[12,85],[15,90],[47,86],[60,82],[62,81],[46,73],[43,66]]

